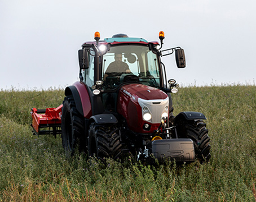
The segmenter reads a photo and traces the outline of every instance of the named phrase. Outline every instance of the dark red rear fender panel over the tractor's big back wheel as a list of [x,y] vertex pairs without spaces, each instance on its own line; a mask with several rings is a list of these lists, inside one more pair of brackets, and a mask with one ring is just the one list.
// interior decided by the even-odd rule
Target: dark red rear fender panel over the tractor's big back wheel
[[81,103],[83,107],[83,116],[89,119],[92,116],[92,112],[91,112],[91,100],[90,100],[87,88],[85,84],[81,81],[77,81],[73,85],[76,86],[77,91],[81,98]]

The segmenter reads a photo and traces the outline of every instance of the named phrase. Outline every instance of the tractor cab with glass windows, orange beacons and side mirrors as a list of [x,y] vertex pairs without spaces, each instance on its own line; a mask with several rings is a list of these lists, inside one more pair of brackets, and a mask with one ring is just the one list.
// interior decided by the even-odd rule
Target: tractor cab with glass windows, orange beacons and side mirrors
[[[164,35],[160,34],[161,44],[129,38],[126,34],[99,40],[100,35],[96,32],[94,42],[82,45],[78,51],[80,80],[94,95],[101,94],[104,109],[116,112],[118,90],[126,84],[143,84],[168,91],[165,68],[160,60]],[[176,47],[165,51],[170,50],[171,53],[175,50],[182,58],[182,61],[176,59],[178,67],[184,67],[183,49]]]

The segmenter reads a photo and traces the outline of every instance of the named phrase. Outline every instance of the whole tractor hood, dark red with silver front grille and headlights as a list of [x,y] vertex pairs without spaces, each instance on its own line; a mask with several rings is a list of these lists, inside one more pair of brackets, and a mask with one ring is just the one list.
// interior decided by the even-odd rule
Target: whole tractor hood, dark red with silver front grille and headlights
[[[169,113],[169,97],[164,91],[143,84],[122,86],[118,94],[117,112],[135,132],[152,133]],[[145,128],[147,124],[147,128]]]

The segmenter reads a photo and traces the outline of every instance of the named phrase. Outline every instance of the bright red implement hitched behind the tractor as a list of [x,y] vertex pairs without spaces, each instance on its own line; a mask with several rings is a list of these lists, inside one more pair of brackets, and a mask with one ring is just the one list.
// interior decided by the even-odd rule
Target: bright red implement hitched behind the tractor
[[[32,128],[34,135],[56,136],[61,134],[61,104],[57,108],[36,109],[32,108]],[[41,130],[42,129],[42,130]]]

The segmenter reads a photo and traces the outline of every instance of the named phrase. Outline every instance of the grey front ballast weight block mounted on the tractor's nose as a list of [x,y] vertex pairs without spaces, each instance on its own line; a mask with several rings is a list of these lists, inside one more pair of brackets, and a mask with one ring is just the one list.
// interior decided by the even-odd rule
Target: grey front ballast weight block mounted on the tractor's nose
[[175,159],[176,162],[194,162],[195,150],[191,139],[154,140],[152,154],[158,159]]

